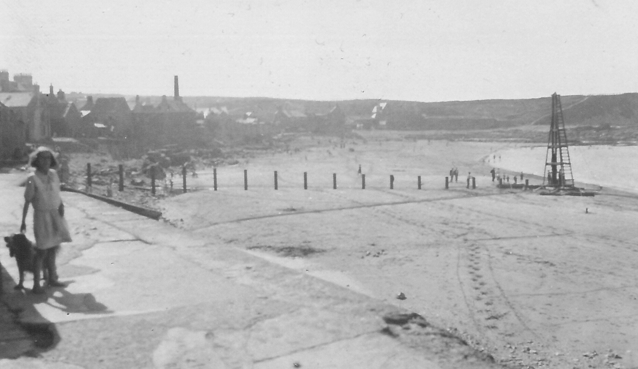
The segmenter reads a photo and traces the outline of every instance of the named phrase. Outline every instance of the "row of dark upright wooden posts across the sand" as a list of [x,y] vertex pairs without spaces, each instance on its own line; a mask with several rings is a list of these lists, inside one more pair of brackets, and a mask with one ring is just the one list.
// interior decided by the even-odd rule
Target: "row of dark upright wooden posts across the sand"
[[[119,164],[119,182],[118,190],[124,191],[124,166]],[[155,166],[150,167],[151,171],[151,194],[155,194]],[[449,188],[450,177],[445,177],[445,189]],[[528,180],[525,180],[525,184],[528,184]],[[86,164],[86,185],[92,187],[93,179],[91,173],[91,163]],[[212,169],[212,185],[214,191],[217,191],[217,168]],[[471,177],[471,188],[475,189],[476,178]],[[279,189],[277,171],[274,171],[274,188]],[[467,180],[467,188],[470,188],[470,178]],[[304,190],[308,189],[308,172],[304,171]],[[332,189],[337,189],[337,173],[332,173]],[[361,189],[366,189],[366,175],[361,174]],[[394,189],[394,175],[390,175],[390,189]],[[421,189],[421,176],[417,177],[417,189]],[[244,190],[248,190],[248,170],[244,170]],[[186,167],[182,166],[182,191],[187,192],[186,187]]]

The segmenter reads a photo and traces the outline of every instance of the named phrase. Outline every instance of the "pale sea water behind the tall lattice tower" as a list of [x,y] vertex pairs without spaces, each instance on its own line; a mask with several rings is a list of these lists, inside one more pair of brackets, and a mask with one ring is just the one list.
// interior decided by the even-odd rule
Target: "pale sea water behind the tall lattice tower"
[[[544,174],[546,146],[511,148],[493,154],[496,161],[491,160],[489,165],[496,168]],[[638,146],[572,146],[569,155],[576,182],[638,192]]]

